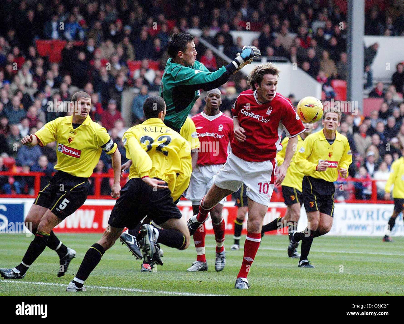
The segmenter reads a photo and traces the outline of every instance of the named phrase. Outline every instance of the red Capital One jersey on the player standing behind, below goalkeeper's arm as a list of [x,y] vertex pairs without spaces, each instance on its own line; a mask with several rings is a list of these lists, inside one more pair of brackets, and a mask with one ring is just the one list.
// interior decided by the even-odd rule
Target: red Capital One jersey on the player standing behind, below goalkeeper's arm
[[222,112],[215,116],[201,112],[192,120],[200,142],[197,164],[224,164],[227,160],[227,146],[233,139],[233,120]]

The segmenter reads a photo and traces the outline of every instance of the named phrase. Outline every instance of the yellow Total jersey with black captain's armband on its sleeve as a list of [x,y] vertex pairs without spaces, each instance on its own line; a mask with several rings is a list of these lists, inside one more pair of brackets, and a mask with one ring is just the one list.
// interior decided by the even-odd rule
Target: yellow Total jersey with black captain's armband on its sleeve
[[113,154],[117,145],[107,130],[87,116],[84,122],[73,128],[72,116],[59,117],[46,123],[34,135],[39,145],[57,141],[57,164],[60,170],[75,177],[88,178],[93,174],[101,151]]

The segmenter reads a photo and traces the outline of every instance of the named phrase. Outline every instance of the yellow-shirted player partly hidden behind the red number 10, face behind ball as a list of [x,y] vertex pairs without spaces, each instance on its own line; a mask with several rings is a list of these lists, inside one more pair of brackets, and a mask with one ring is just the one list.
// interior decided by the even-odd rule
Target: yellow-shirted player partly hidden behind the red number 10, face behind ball
[[[305,132],[303,134],[297,135],[297,147],[295,147],[295,154],[290,161],[285,179],[282,182],[282,195],[287,207],[286,214],[284,217],[279,217],[271,221],[271,223],[263,225],[261,231],[261,235],[263,235],[265,232],[273,231],[275,229],[281,229],[282,227],[287,226],[289,243],[293,231],[296,231],[297,229],[297,222],[299,221],[300,210],[303,204],[302,180],[304,174],[301,173],[297,168],[295,157],[299,149],[302,147],[303,141],[308,135],[310,135],[311,131],[313,130],[314,124],[303,123],[303,126],[305,126]],[[283,163],[288,141],[289,137],[287,136],[282,140],[282,150],[279,151],[276,155],[278,166],[282,165]],[[297,244],[295,244],[295,247],[293,249],[288,249],[288,257],[294,259],[300,257],[300,254],[296,251]]]

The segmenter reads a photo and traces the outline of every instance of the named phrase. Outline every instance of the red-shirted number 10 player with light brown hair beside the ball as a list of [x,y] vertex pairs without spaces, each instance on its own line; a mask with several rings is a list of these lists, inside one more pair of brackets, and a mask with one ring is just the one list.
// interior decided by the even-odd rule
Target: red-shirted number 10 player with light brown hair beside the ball
[[[236,99],[231,112],[234,139],[231,153],[213,186],[188,221],[192,234],[208,218],[208,212],[224,197],[247,185],[248,221],[244,257],[234,288],[248,289],[247,275],[261,242],[261,227],[274,184],[281,184],[297,146],[297,135],[305,131],[290,100],[276,93],[279,69],[272,63],[256,66],[248,75],[251,89]],[[276,170],[276,152],[283,130],[290,138],[283,164]],[[276,180],[275,180],[276,177]]]

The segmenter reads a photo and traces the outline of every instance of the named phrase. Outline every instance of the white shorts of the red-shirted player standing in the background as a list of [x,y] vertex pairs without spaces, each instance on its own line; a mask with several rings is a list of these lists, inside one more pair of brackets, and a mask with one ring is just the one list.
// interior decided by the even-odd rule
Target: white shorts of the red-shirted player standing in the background
[[[189,187],[185,194],[185,198],[192,201],[192,205],[199,205],[203,196],[207,194],[213,185],[213,180],[217,172],[223,168],[224,164],[197,165],[192,171]],[[225,201],[223,198],[221,201]]]

